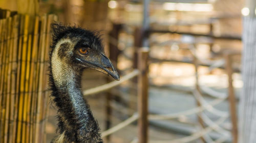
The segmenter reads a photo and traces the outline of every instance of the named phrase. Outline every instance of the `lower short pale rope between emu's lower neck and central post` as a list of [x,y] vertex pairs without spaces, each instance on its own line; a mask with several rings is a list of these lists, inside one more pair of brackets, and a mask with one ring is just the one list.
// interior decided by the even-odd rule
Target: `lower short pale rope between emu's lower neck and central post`
[[114,132],[116,132],[116,131],[118,131],[118,130],[120,130],[120,129],[128,126],[128,125],[130,125],[131,123],[136,121],[138,118],[139,118],[138,114],[135,113],[132,117],[124,120],[123,122],[117,124],[116,126],[110,128],[108,130],[103,131],[102,132],[102,137],[108,136],[108,135],[110,135],[110,134],[112,134],[112,133],[114,133]]

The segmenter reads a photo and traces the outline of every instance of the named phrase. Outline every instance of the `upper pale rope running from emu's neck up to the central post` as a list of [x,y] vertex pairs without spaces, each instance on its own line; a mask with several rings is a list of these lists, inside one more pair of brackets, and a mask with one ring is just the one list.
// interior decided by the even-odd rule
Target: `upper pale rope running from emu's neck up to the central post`
[[96,93],[99,93],[99,92],[102,92],[102,91],[109,90],[111,88],[116,87],[117,85],[120,85],[124,81],[127,81],[127,80],[137,76],[138,74],[139,74],[139,70],[135,69],[131,73],[126,74],[125,76],[121,77],[120,81],[112,81],[110,83],[106,83],[106,84],[100,85],[98,87],[86,90],[86,91],[83,92],[83,95],[87,96],[87,95],[96,94]]

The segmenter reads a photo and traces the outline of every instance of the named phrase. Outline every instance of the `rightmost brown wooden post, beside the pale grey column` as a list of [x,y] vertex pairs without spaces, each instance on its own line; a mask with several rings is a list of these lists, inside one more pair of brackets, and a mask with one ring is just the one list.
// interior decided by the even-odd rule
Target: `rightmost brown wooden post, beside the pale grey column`
[[230,118],[232,122],[232,135],[233,143],[238,142],[238,124],[237,124],[237,108],[236,108],[236,96],[234,94],[233,84],[232,84],[232,60],[230,54],[225,54],[226,60],[226,72],[228,75],[228,101],[229,101],[229,111]]

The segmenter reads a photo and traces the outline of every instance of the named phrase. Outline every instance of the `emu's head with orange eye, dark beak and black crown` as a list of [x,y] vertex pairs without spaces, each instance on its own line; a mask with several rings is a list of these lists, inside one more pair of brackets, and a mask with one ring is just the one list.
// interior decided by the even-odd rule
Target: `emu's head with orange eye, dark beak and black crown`
[[[50,64],[53,76],[67,78],[84,68],[92,68],[119,80],[119,75],[111,61],[105,56],[101,39],[97,33],[76,26],[51,25],[53,43]],[[66,74],[66,76],[62,76]],[[60,77],[61,75],[61,77]]]

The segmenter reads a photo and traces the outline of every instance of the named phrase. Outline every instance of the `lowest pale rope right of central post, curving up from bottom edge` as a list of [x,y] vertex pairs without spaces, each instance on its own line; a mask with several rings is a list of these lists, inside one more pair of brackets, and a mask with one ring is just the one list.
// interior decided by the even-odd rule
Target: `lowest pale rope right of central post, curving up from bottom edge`
[[190,136],[186,136],[186,137],[182,137],[182,138],[178,138],[178,139],[173,139],[173,140],[154,140],[152,142],[154,142],[154,143],[185,143],[185,142],[193,141],[193,140],[196,140],[199,137],[209,133],[213,129],[217,128],[217,126],[220,125],[221,123],[223,123],[226,119],[227,119],[227,117],[221,117],[216,122],[216,124],[212,124],[212,125],[208,126],[207,128],[204,128],[200,131],[197,131],[196,133],[194,133]]

